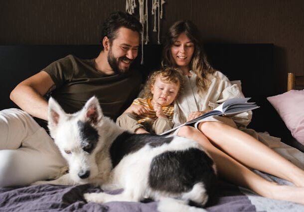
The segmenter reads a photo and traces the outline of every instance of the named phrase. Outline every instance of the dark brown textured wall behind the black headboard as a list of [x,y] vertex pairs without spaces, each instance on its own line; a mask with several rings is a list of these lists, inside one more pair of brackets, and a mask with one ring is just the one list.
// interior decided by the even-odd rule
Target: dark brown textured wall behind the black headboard
[[[125,0],[0,0],[0,45],[98,44],[105,17],[124,10],[125,4]],[[175,20],[190,19],[208,43],[273,43],[279,93],[286,89],[287,72],[304,74],[303,11],[303,0],[166,0],[161,37]],[[155,43],[156,33],[151,28],[150,32]]]

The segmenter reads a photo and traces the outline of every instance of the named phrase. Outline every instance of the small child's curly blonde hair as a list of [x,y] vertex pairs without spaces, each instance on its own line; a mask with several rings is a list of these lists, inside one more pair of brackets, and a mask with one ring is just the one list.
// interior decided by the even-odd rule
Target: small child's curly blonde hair
[[163,68],[157,71],[153,71],[147,79],[147,82],[144,86],[144,91],[141,94],[143,98],[152,98],[153,94],[151,93],[152,84],[155,83],[157,77],[161,77],[160,80],[165,83],[174,83],[179,84],[179,89],[176,95],[176,98],[181,93],[183,88],[183,76],[179,69],[175,68]]

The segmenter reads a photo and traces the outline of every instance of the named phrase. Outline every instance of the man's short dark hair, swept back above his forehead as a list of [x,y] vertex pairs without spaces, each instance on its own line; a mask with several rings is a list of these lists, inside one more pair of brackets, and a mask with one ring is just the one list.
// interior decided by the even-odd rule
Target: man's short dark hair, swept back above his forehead
[[[113,12],[110,16],[104,21],[102,26],[102,40],[107,36],[112,42],[116,38],[116,31],[120,27],[126,27],[138,33],[141,33],[143,30],[141,22],[136,19],[133,15],[130,15],[127,12]],[[101,43],[102,43],[101,40]],[[102,50],[104,50],[103,45]]]

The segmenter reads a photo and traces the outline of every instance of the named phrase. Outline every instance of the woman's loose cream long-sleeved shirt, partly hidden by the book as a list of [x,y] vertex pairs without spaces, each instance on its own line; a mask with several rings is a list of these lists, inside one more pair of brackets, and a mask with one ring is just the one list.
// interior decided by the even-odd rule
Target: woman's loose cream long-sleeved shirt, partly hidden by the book
[[[208,89],[204,93],[198,93],[195,83],[196,75],[192,71],[191,73],[191,77],[185,76],[184,92],[176,99],[174,104],[174,126],[186,122],[186,117],[191,112],[212,110],[227,99],[244,97],[238,85],[232,84],[220,71],[215,71],[213,75],[210,75]],[[232,126],[232,119],[238,128],[244,128],[250,123],[251,117],[252,112],[248,111],[227,118],[208,117],[204,121],[221,121]]]

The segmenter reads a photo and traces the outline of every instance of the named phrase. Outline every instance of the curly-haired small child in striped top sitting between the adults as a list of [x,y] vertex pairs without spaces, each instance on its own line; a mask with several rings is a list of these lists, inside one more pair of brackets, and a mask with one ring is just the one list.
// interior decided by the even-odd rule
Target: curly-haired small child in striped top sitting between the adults
[[131,132],[161,134],[173,127],[173,101],[180,92],[180,71],[166,68],[154,71],[145,85],[144,98],[137,98],[116,123]]

